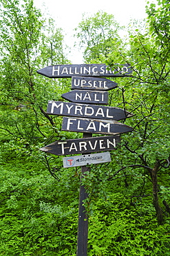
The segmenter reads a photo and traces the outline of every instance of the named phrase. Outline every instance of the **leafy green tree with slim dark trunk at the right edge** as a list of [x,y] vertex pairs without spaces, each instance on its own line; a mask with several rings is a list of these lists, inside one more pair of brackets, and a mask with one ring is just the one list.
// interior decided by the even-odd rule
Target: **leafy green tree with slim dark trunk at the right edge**
[[[134,154],[134,163],[138,158],[139,164],[144,165],[144,174],[149,174],[153,185],[153,205],[159,223],[163,221],[162,205],[159,201],[161,194],[169,190],[165,170],[169,170],[169,3],[158,1],[160,8],[151,3],[147,7],[147,28],[145,34],[136,30],[130,35],[130,51],[125,59],[131,63],[134,70],[128,91],[133,98],[132,112],[136,113],[133,134],[137,143],[126,149]],[[164,16],[165,15],[165,16]],[[125,55],[124,55],[125,56]],[[133,84],[133,89],[131,88]],[[129,92],[126,93],[129,97]],[[136,104],[137,103],[137,104]],[[130,144],[130,143],[129,143]],[[167,187],[167,189],[164,189]],[[163,196],[164,209],[170,213],[169,198]]]

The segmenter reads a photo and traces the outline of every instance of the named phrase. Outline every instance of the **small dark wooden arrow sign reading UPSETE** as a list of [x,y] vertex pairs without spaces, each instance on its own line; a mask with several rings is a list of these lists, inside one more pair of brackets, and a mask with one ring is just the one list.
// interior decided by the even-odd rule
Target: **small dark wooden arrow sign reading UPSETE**
[[116,82],[98,77],[72,77],[72,89],[109,91],[118,86]]

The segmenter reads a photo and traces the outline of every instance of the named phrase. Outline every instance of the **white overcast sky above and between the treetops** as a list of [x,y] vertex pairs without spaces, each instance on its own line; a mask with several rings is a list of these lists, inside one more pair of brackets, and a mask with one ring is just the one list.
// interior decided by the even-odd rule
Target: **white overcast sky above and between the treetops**
[[[157,3],[156,0],[150,0],[151,3]],[[114,15],[116,21],[120,25],[126,26],[130,19],[144,19],[145,6],[147,1],[145,0],[34,0],[34,4],[37,8],[40,8],[43,12],[48,12],[50,17],[55,19],[56,26],[63,28],[66,34],[66,44],[72,47],[70,60],[73,64],[82,64],[81,53],[75,53],[73,48],[74,34],[73,29],[78,26],[78,23],[82,20],[84,12],[89,15],[93,15],[98,10],[103,10],[108,14]]]

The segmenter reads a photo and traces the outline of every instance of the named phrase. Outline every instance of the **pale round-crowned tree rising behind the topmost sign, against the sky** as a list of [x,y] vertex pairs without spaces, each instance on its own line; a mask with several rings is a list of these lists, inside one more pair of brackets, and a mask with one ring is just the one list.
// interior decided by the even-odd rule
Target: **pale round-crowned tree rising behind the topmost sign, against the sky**
[[114,15],[99,11],[92,17],[85,17],[76,28],[76,37],[84,50],[85,61],[100,63],[107,59],[114,46],[122,40],[118,35],[121,27],[114,19]]

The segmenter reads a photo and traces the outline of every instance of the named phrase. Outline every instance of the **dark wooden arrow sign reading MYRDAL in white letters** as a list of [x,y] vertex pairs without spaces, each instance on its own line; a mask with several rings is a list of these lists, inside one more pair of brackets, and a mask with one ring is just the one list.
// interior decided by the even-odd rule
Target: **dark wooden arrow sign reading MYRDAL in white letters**
[[47,113],[56,116],[76,116],[104,120],[122,120],[133,116],[133,114],[116,107],[57,102],[52,100],[48,102]]

